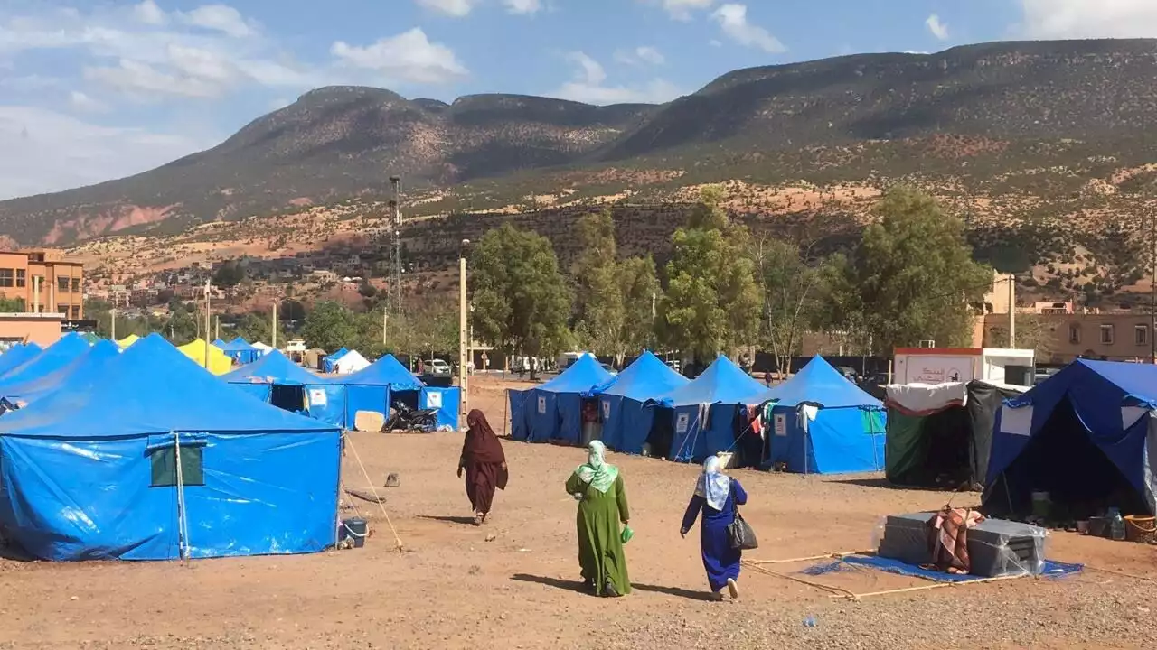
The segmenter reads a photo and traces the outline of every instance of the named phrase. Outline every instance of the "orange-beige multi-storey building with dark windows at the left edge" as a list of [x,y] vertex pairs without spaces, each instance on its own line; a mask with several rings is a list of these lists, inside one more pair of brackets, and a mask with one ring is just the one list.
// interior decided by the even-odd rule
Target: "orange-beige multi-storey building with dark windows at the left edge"
[[84,317],[84,266],[60,251],[0,252],[0,297],[22,298],[35,313]]

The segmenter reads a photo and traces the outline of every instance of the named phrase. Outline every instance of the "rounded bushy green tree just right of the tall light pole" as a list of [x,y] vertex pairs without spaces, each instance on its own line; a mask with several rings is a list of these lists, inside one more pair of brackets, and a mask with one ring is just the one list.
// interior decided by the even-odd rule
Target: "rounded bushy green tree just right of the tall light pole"
[[551,242],[502,224],[471,253],[474,334],[508,354],[550,355],[570,340],[570,289]]

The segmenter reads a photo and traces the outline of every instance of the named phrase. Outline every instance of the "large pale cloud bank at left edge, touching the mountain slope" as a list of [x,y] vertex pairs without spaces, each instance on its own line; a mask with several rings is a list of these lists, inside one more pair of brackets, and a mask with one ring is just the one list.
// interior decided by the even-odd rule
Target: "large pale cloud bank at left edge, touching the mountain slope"
[[209,140],[113,128],[31,106],[0,106],[0,199],[91,185],[201,150]]

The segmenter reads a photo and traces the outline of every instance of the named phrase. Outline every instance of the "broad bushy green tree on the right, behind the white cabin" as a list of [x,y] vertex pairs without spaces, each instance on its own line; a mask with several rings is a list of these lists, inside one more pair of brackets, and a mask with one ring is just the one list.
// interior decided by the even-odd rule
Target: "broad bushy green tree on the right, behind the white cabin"
[[825,274],[830,328],[860,332],[875,349],[921,340],[966,345],[974,309],[992,287],[992,268],[972,259],[960,220],[909,187],[887,192],[850,258]]

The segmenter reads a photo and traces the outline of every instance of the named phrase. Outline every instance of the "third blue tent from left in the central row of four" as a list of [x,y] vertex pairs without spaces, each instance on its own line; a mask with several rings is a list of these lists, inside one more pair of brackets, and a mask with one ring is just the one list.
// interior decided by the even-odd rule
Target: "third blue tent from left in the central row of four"
[[700,461],[735,445],[736,412],[767,401],[767,387],[721,355],[694,381],[654,401],[673,411],[668,457]]

